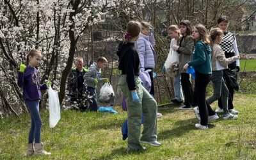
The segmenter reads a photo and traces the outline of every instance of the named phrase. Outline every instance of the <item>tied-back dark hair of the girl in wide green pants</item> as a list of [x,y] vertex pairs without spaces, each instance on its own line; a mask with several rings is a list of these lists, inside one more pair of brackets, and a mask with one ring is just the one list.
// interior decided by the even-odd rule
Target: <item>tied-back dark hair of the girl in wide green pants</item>
[[127,29],[125,33],[125,43],[129,42],[131,38],[134,38],[138,35],[140,35],[141,31],[141,24],[138,21],[131,20],[127,24]]

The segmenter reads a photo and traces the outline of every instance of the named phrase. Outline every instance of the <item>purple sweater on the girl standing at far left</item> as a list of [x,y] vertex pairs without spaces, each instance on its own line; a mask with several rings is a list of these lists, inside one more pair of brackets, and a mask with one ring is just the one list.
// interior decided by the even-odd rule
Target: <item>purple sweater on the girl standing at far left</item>
[[18,86],[23,87],[23,97],[26,100],[41,99],[40,90],[46,90],[46,84],[39,83],[39,77],[36,68],[26,67],[24,72],[19,72]]

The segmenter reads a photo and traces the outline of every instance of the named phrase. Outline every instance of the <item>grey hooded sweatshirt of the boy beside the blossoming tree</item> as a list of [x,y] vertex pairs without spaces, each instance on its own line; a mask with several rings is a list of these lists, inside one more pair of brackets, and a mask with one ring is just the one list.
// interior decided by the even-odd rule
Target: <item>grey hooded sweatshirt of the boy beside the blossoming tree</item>
[[88,87],[96,88],[96,85],[93,83],[94,79],[97,79],[99,82],[103,81],[103,79],[100,79],[100,68],[98,68],[95,62],[92,63],[88,71],[84,74],[84,83]]

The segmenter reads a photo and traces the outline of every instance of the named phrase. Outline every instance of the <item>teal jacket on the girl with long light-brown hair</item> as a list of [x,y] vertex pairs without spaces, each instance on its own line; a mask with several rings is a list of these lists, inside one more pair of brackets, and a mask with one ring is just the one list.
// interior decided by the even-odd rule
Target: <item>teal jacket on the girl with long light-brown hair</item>
[[194,67],[196,72],[200,74],[211,74],[211,47],[208,44],[198,40],[193,51],[192,61],[189,61],[188,65]]

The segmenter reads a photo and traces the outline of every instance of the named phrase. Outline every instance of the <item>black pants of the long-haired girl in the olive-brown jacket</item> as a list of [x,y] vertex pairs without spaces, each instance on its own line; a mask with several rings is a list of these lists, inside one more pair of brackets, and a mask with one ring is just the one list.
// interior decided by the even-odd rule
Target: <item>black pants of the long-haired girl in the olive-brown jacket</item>
[[185,96],[184,104],[186,106],[192,106],[193,104],[193,88],[189,79],[189,74],[181,73],[181,86]]

